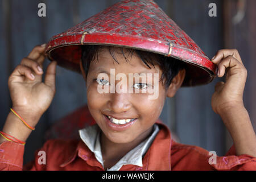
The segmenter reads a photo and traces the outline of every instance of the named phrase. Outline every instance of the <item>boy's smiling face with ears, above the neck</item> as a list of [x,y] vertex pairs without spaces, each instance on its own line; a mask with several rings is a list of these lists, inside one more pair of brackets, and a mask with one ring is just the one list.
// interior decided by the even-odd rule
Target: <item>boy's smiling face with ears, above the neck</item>
[[[80,63],[82,74],[86,80],[87,100],[90,113],[104,135],[114,143],[129,143],[147,135],[148,132],[151,131],[152,125],[154,125],[159,118],[166,97],[174,96],[185,76],[184,72],[180,72],[174,78],[174,84],[171,84],[169,89],[165,89],[162,82],[159,82],[162,71],[159,69],[158,65],[150,69],[135,53],[131,57],[131,54],[129,55],[129,51],[126,49],[124,49],[123,52],[129,60],[128,62],[122,55],[121,49],[114,48],[114,56],[118,60],[118,64],[113,60],[109,49],[102,49],[98,52],[98,60],[97,56],[95,56],[95,60],[91,61],[87,77],[85,77],[84,69],[82,69]],[[114,69],[115,75],[110,75],[110,69],[112,69],[112,73]],[[105,73],[108,77],[98,78],[100,73]],[[121,81],[122,79],[117,80],[117,78],[115,78],[118,73],[126,75],[127,84],[124,84],[124,82]],[[148,96],[152,95],[152,93],[142,93],[142,89],[146,89],[145,87],[147,87],[145,85],[147,82],[143,82],[141,79],[135,82],[135,78],[133,78],[133,84],[129,86],[129,73],[146,73],[146,75],[147,73],[152,73],[151,77],[154,76],[154,73],[159,74],[158,81],[154,81],[152,77],[151,84],[153,87],[158,86],[158,97],[156,99],[148,99]],[[110,77],[112,77],[112,79],[114,78],[115,86],[117,86],[119,82],[121,92],[114,90],[114,93],[110,93]],[[143,83],[143,85],[140,85],[140,82]],[[120,83],[122,83],[121,86]],[[134,92],[131,93],[127,91],[127,89],[124,89],[125,86],[127,89],[132,88]],[[105,88],[109,90],[109,92],[100,93],[99,88]],[[136,89],[139,93],[135,93]],[[113,121],[113,119],[109,119],[106,116],[111,116],[119,120],[114,119]],[[123,119],[127,119],[125,120],[127,122],[126,124],[121,124],[124,122]],[[129,119],[134,119],[134,121],[129,122]],[[117,122],[119,122],[119,124],[117,124]]]

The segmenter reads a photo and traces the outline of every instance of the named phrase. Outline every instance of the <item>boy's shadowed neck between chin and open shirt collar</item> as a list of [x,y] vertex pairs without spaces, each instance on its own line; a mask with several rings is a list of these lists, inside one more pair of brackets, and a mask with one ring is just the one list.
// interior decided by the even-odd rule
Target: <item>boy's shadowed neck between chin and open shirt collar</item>
[[153,126],[129,143],[114,143],[101,132],[101,154],[102,159],[104,160],[104,168],[106,169],[114,166],[114,164],[117,163],[129,151],[150,136],[152,130]]

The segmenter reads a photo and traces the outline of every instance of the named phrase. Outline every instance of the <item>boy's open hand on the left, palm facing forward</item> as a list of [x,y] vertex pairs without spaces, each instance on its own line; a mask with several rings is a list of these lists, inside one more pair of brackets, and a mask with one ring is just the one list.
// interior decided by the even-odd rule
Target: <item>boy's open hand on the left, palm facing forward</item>
[[[35,126],[43,113],[51,105],[55,95],[56,61],[52,61],[46,71],[42,82],[45,60],[44,49],[46,45],[36,46],[27,57],[14,69],[8,80],[13,109],[26,118],[31,118],[30,123]],[[34,78],[31,76],[34,75]]]

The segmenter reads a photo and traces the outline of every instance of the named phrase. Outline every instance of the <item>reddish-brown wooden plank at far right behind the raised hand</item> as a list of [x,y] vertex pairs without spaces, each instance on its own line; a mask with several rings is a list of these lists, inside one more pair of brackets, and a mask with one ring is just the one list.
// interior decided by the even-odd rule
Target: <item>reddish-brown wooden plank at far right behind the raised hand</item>
[[[240,53],[243,65],[247,69],[247,80],[243,93],[243,102],[249,112],[254,131],[256,130],[256,1],[224,1],[224,43],[225,48],[236,48]],[[241,18],[238,18],[240,14]],[[237,21],[235,20],[238,18]],[[232,139],[226,131],[226,143]]]

